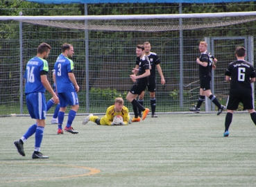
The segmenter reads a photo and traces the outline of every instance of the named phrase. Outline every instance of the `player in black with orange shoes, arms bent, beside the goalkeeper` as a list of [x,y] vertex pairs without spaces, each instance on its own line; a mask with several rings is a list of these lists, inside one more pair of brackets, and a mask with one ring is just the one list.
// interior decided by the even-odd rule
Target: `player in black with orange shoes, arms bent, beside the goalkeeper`
[[128,95],[126,96],[126,100],[128,100],[133,105],[133,112],[135,114],[135,117],[132,121],[135,121],[136,118],[139,118],[138,109],[142,111],[142,120],[146,118],[146,115],[149,112],[149,109],[144,108],[142,105],[140,105],[136,98],[139,94],[142,94],[142,91],[145,91],[146,89],[146,84],[148,84],[148,75],[151,74],[151,65],[148,62],[148,57],[144,55],[143,45],[137,45],[136,55],[137,57],[139,57],[140,60],[139,69],[133,69],[133,73],[137,75],[130,75],[130,78],[136,81],[135,84],[133,84],[133,87],[128,92]]

